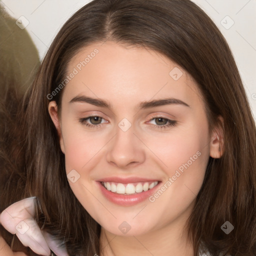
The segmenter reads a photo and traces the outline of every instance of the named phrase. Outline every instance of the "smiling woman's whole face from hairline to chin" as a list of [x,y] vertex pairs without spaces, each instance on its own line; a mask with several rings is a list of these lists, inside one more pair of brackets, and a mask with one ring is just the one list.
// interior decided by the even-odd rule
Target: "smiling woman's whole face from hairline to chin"
[[114,42],[83,48],[67,75],[60,118],[54,101],[49,113],[77,199],[113,234],[180,227],[209,155],[218,157],[191,76],[158,52]]

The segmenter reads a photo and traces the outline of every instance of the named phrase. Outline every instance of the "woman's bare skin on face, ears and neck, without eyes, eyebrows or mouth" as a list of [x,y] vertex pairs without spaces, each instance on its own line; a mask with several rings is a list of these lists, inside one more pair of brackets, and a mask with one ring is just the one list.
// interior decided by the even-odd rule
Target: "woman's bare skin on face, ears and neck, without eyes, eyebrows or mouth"
[[[73,56],[67,73],[95,48],[99,52],[65,85],[60,111],[55,101],[48,105],[65,154],[66,173],[74,169],[80,175],[74,183],[69,181],[70,187],[101,225],[104,255],[192,256],[185,221],[202,185],[209,156],[222,154],[221,134],[217,129],[209,132],[202,96],[192,77],[151,49],[109,41],[94,43]],[[178,80],[169,75],[174,67],[183,73]],[[77,95],[104,99],[112,108],[70,103]],[[142,101],[166,97],[189,106],[137,108]],[[91,115],[102,119],[79,122],[79,118]],[[176,125],[157,128],[168,124],[166,119],[153,119],[157,117],[175,120]],[[127,131],[118,126],[123,118],[131,124]],[[100,126],[88,127],[86,123]],[[149,177],[165,183],[197,151],[200,156],[154,202],[120,206],[108,201],[96,183],[109,176]],[[118,228],[123,221],[130,225],[126,234]]]

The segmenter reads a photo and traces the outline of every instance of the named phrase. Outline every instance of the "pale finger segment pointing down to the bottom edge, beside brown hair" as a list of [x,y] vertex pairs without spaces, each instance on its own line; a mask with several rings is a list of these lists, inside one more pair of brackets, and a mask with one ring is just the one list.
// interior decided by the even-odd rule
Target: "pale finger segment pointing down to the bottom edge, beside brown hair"
[[16,236],[35,253],[46,256],[50,254],[49,246],[34,219],[20,221],[16,226]]

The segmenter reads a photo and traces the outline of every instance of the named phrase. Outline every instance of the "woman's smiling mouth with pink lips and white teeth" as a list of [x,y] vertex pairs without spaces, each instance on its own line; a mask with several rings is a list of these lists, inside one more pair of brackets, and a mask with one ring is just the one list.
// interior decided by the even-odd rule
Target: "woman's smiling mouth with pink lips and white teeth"
[[[144,181],[139,181],[144,180]],[[132,206],[149,199],[159,187],[160,180],[139,178],[106,178],[96,181],[102,195],[110,202],[121,206]]]

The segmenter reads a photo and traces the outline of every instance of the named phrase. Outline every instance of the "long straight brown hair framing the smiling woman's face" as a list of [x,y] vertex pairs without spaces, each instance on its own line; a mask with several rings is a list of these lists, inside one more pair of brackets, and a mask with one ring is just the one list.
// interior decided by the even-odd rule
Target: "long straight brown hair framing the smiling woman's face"
[[[166,55],[197,82],[210,128],[222,116],[224,152],[209,157],[187,221],[189,238],[196,256],[201,245],[213,256],[256,255],[255,122],[226,40],[190,0],[93,0],[62,26],[23,101],[25,195],[37,196],[39,225],[62,240],[70,255],[99,252],[100,226],[69,187],[46,95],[64,80],[81,47],[105,40]],[[59,107],[62,91],[51,99]],[[234,226],[229,234],[220,228],[225,221]]]

